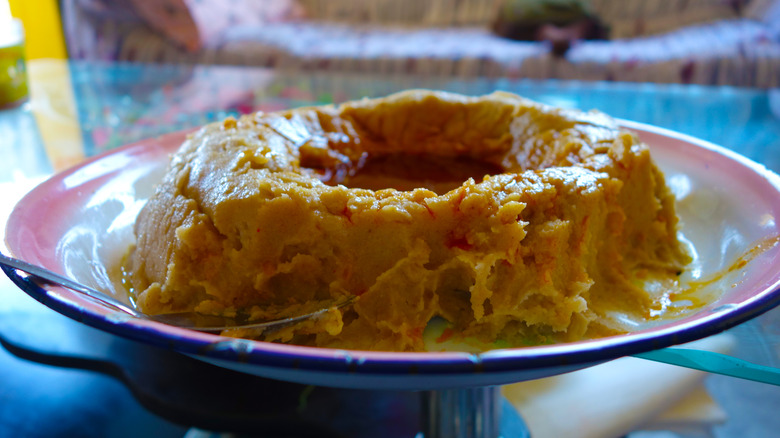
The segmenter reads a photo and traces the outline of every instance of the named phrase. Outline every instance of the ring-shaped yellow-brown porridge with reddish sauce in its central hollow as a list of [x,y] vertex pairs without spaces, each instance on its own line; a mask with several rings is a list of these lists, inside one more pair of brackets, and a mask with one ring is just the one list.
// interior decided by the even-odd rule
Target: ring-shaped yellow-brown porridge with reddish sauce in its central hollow
[[635,135],[504,92],[208,125],[135,231],[125,269],[144,312],[277,319],[356,296],[264,335],[353,349],[429,348],[435,319],[440,341],[490,346],[624,333],[664,310],[690,261]]

